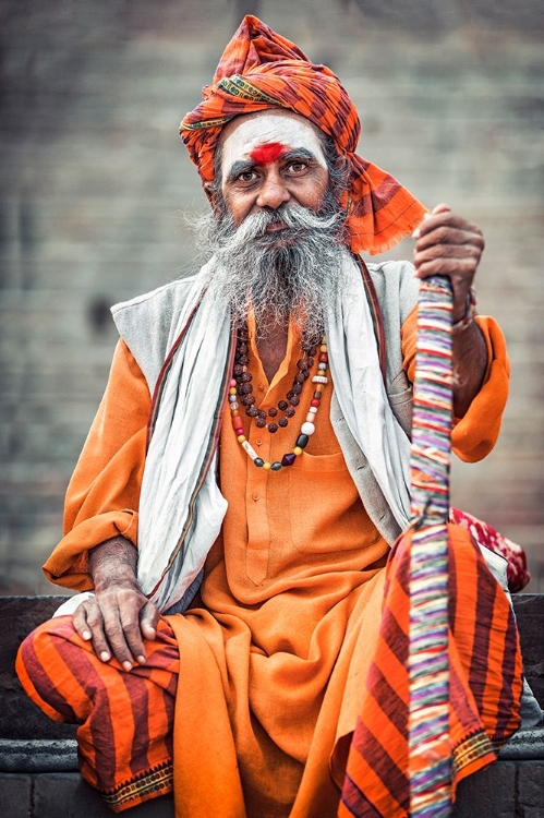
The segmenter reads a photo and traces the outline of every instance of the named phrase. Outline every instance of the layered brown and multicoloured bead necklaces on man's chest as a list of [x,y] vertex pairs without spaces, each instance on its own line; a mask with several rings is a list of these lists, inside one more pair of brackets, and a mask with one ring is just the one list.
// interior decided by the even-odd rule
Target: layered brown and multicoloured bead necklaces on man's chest
[[[326,374],[328,369],[327,341],[325,336],[323,336],[319,345],[314,341],[302,342],[303,354],[300,360],[297,361],[298,372],[294,376],[290,392],[287,393],[285,400],[278,402],[277,407],[270,407],[265,411],[264,409],[257,409],[255,406],[255,397],[253,396],[253,386],[251,384],[253,376],[249,371],[249,340],[250,334],[247,325],[244,324],[242,327],[239,327],[238,330],[234,365],[232,368],[232,378],[229,386],[229,407],[232,428],[234,429],[238,442],[257,468],[279,471],[283,467],[292,466],[294,464],[297,457],[302,455],[303,450],[310,443],[310,437],[315,432],[317,410],[322,402],[323,390],[328,383]],[[245,413],[249,418],[255,419],[255,425],[258,429],[266,429],[270,434],[276,434],[278,429],[286,428],[289,420],[294,417],[295,409],[300,404],[300,396],[302,394],[304,382],[311,376],[311,369],[314,365],[314,359],[316,356],[317,366],[315,374],[312,375],[314,393],[310,401],[306,419],[300,428],[299,436],[297,437],[294,446],[291,452],[287,452],[283,455],[281,460],[268,462],[262,457],[258,457],[257,453],[244,435],[243,422],[240,416],[240,405],[245,408]],[[277,419],[278,412],[281,412],[283,417]],[[271,418],[271,422],[267,422],[267,418]]]

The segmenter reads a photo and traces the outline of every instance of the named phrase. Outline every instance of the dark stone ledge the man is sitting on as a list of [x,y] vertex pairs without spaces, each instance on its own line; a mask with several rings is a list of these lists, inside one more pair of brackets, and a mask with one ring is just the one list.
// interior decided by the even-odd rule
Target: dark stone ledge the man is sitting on
[[[112,813],[77,771],[75,726],[50,721],[26,697],[13,664],[19,645],[62,597],[0,597],[0,815],[101,818]],[[525,676],[544,706],[544,594],[513,597]],[[162,796],[130,818],[173,818]],[[497,763],[462,781],[455,818],[544,818],[544,727],[519,731]],[[208,816],[195,816],[208,818]],[[211,818],[211,816],[209,817]]]

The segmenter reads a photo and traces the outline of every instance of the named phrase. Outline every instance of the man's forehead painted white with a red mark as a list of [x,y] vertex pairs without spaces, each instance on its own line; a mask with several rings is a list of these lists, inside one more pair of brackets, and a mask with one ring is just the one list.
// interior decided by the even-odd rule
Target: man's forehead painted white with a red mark
[[221,137],[221,176],[238,161],[274,161],[298,148],[310,152],[324,168],[325,154],[316,129],[303,117],[288,111],[261,111],[226,125]]

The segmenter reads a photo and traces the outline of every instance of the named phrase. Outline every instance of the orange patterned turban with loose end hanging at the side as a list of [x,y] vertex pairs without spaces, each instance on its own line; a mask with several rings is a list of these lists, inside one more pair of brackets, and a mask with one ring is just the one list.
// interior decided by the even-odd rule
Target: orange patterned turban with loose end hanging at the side
[[389,173],[354,153],[361,124],[353,103],[326,65],[314,65],[293,43],[247,15],[228,44],[203,101],[180,133],[203,182],[214,178],[221,128],[240,113],[287,108],[331,136],[352,181],[341,199],[351,249],[383,253],[410,234],[426,208]]

